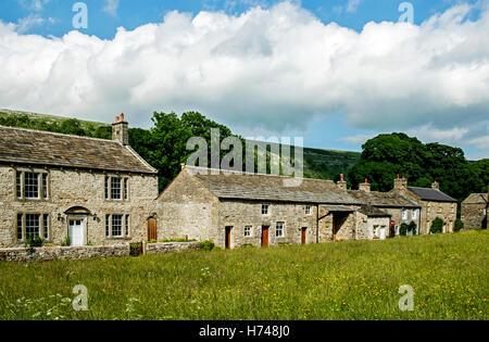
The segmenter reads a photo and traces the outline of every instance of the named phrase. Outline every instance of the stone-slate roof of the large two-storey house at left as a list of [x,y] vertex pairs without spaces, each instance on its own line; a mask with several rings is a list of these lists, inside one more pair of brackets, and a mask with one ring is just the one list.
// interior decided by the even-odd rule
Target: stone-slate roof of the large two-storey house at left
[[0,126],[0,162],[155,174],[117,141]]

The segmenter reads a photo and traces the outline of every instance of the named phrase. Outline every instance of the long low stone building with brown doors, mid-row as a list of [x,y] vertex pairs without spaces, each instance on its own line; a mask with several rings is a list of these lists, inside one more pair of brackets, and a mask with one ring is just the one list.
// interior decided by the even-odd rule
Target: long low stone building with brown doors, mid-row
[[330,180],[184,165],[158,199],[158,218],[159,238],[233,249],[386,238],[391,215]]

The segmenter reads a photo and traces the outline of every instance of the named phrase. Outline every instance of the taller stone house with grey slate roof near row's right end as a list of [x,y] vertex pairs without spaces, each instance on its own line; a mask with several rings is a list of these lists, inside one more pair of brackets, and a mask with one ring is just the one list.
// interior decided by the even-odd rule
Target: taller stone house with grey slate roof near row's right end
[[457,201],[442,192],[437,181],[431,188],[410,187],[406,178],[398,176],[391,193],[403,195],[421,205],[418,226],[421,235],[429,233],[431,223],[437,217],[443,219],[443,232],[453,232]]

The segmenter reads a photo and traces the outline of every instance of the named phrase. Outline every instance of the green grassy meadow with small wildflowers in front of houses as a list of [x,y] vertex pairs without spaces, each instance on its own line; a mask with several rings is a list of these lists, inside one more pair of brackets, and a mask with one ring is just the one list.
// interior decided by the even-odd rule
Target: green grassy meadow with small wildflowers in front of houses
[[[488,231],[0,263],[0,319],[488,319]],[[76,284],[89,311],[75,312]],[[414,311],[398,290],[414,288]]]

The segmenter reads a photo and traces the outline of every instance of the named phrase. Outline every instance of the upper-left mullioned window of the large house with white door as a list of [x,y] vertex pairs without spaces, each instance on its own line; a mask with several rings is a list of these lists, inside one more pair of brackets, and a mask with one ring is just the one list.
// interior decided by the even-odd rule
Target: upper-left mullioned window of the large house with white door
[[47,200],[49,198],[48,173],[17,170],[15,194],[18,200]]

